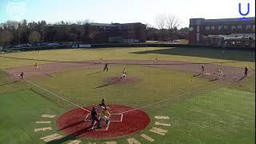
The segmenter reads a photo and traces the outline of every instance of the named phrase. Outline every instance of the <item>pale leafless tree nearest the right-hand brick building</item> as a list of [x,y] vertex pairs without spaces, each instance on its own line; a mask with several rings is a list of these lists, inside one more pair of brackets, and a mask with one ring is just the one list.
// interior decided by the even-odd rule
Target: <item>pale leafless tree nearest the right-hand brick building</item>
[[166,17],[166,28],[168,31],[168,37],[169,39],[175,38],[175,33],[178,32],[178,26],[180,25],[180,22],[178,18],[174,15],[168,15]]

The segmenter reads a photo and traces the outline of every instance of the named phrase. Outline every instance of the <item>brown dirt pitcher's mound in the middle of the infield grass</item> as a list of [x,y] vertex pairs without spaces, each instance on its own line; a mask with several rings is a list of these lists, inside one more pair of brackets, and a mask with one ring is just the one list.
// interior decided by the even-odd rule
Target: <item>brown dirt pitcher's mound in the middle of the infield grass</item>
[[134,83],[134,82],[138,82],[139,78],[137,77],[110,77],[110,78],[106,78],[106,83],[108,84],[126,84],[126,83]]

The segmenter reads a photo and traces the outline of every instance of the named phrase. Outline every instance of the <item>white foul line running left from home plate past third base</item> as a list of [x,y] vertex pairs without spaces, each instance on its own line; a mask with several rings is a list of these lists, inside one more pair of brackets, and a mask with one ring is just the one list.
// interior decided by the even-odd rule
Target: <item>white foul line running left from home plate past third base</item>
[[[18,77],[17,74],[14,74],[14,73],[12,73],[12,72],[10,72],[10,71],[8,71],[8,70],[4,70],[4,71],[6,71],[6,73],[8,73],[8,74],[13,74],[14,76]],[[54,96],[56,96],[56,97],[58,97],[58,98],[61,98],[63,101],[66,101],[66,102],[68,102],[68,103],[70,103],[70,104],[72,104],[72,105],[74,105],[74,106],[77,106],[78,108],[80,108],[80,109],[82,109],[82,110],[86,110],[86,109],[83,108],[82,106],[79,106],[78,104],[75,104],[74,102],[70,102],[70,101],[67,100],[66,98],[62,98],[62,97],[59,96],[58,94],[54,94],[53,92],[51,92],[50,90],[46,90],[46,89],[43,88],[42,86],[38,86],[37,84],[34,84],[33,82],[30,82],[29,80],[26,80],[26,79],[24,79],[24,80],[25,80],[25,82],[28,82],[28,83],[30,83],[30,84],[33,85],[33,86],[37,86],[37,87],[38,87],[39,89],[41,89],[41,90],[45,90],[46,92],[48,92],[48,93],[50,93],[50,94],[53,94]],[[86,111],[90,113],[90,110],[86,110]]]

